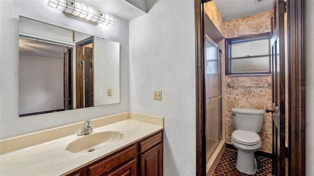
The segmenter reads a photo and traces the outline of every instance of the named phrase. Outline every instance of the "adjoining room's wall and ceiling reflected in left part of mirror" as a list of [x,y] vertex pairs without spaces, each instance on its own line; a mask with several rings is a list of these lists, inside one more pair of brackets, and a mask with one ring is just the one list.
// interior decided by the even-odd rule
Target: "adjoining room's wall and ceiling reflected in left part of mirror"
[[63,103],[64,65],[67,65],[64,50],[67,46],[19,38],[21,115],[71,109]]

